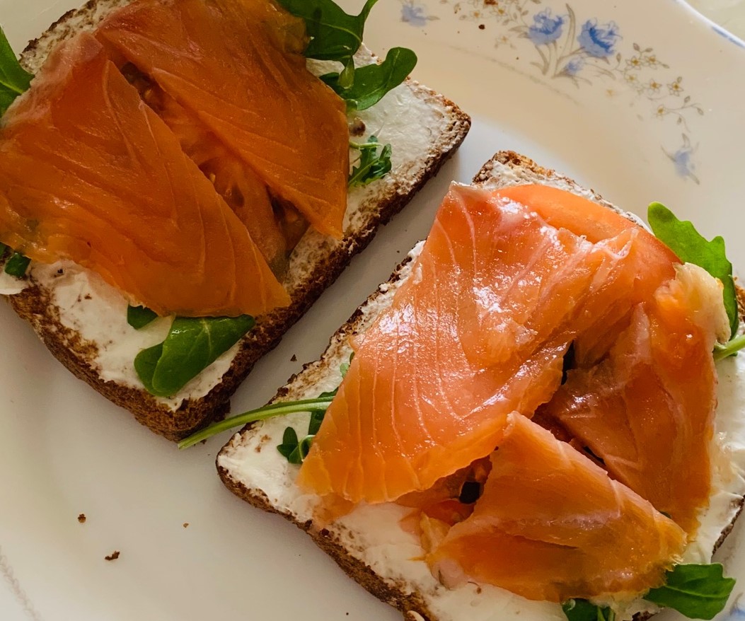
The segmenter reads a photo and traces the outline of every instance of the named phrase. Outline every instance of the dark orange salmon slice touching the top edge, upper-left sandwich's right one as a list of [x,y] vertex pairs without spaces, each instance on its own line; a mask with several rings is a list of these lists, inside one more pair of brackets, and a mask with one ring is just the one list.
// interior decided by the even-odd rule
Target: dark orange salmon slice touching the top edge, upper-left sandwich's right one
[[302,21],[257,0],[138,0],[98,38],[153,80],[315,229],[340,238],[343,101],[305,68]]

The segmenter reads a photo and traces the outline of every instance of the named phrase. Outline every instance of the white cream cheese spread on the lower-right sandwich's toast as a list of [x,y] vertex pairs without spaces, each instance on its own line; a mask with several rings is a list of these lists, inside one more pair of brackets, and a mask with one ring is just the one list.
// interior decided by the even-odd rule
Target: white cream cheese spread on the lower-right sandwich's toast
[[[416,257],[420,243],[410,252]],[[410,264],[402,272],[402,280],[412,275]],[[384,284],[378,296],[364,307],[369,318],[365,325],[390,302],[397,284]],[[289,399],[312,398],[320,392],[334,389],[340,383],[339,364],[348,359],[346,343],[336,343],[336,351],[326,360],[323,376],[312,376],[314,382],[301,388],[291,388]],[[714,544],[738,512],[738,503],[745,494],[745,355],[717,363],[719,406],[711,443],[711,499],[700,514],[697,538],[685,551],[685,562],[706,563],[711,560]],[[313,373],[313,369],[310,370]],[[292,386],[292,385],[291,385]],[[291,465],[276,450],[282,442],[285,427],[295,427],[299,436],[308,429],[308,415],[292,415],[270,419],[246,433],[238,433],[218,456],[218,465],[225,468],[233,480],[247,488],[266,494],[279,512],[293,515],[299,523],[313,520],[317,497],[302,494],[294,484],[298,467]],[[424,550],[418,538],[401,528],[399,520],[410,509],[396,504],[358,506],[349,515],[331,525],[324,524],[332,537],[350,555],[371,567],[391,585],[405,592],[418,593],[438,621],[565,621],[559,605],[534,602],[510,591],[490,585],[466,584],[447,589],[433,578],[421,559]],[[402,587],[402,585],[404,585]],[[618,611],[618,619],[629,620],[639,611],[656,611],[649,602],[631,602]]]

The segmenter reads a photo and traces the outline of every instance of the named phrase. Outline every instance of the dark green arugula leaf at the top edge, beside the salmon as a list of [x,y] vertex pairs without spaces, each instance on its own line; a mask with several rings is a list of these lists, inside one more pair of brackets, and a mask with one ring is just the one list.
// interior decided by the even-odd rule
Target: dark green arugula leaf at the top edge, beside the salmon
[[305,56],[317,60],[338,60],[347,76],[343,81],[351,86],[354,72],[352,56],[362,43],[365,21],[377,0],[367,0],[359,15],[348,15],[332,0],[279,0],[286,10],[305,20],[311,42]]

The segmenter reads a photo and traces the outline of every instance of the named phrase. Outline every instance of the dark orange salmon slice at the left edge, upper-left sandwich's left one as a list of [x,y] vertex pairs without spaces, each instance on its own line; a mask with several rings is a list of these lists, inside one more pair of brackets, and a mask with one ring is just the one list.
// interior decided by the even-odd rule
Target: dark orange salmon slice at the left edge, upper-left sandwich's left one
[[3,243],[75,261],[161,315],[288,304],[246,227],[94,37],[60,45],[3,121]]

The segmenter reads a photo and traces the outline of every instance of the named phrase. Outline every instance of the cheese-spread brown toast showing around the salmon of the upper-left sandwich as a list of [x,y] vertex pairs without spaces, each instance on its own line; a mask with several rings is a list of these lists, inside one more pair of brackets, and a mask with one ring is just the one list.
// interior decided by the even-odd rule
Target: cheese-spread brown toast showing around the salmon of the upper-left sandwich
[[[51,50],[81,31],[94,29],[107,14],[128,0],[90,0],[66,13],[22,54],[22,64],[38,71]],[[370,51],[358,52],[357,63],[375,62]],[[310,63],[318,73],[321,63]],[[340,241],[309,231],[291,255],[283,284],[291,305],[257,318],[238,345],[173,398],[155,398],[137,378],[136,354],[165,338],[168,327],[158,321],[142,331],[126,322],[127,302],[95,274],[72,264],[32,264],[25,288],[10,304],[50,351],[78,378],[115,404],[127,408],[156,433],[177,440],[221,416],[228,400],[261,356],[305,313],[349,264],[434,176],[468,133],[470,118],[443,95],[413,80],[381,102],[350,117],[352,136],[364,142],[375,134],[393,150],[393,171],[370,185],[352,188]],[[0,290],[12,293],[16,282],[0,278]]]

